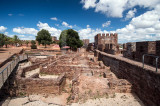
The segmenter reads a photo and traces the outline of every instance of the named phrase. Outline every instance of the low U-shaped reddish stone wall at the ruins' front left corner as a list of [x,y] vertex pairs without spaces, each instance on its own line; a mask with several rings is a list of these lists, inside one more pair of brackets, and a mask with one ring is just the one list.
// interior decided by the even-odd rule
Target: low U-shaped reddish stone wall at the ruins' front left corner
[[16,95],[28,94],[60,94],[65,84],[65,73],[58,78],[25,78],[24,73],[38,68],[35,64],[23,69],[19,69],[16,75],[17,92]]

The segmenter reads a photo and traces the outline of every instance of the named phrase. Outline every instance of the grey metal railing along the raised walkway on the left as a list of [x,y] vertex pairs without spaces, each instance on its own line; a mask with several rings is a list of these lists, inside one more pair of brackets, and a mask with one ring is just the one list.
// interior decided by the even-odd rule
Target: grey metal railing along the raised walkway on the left
[[0,89],[12,73],[14,68],[20,61],[28,59],[28,55],[20,55],[15,57],[1,72],[0,72]]

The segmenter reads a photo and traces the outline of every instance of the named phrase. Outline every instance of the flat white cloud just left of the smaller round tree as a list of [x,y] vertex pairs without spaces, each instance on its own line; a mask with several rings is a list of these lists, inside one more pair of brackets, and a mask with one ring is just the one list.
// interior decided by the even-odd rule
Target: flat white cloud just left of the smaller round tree
[[19,34],[31,34],[31,35],[37,35],[38,30],[34,28],[13,28],[13,32],[19,33]]

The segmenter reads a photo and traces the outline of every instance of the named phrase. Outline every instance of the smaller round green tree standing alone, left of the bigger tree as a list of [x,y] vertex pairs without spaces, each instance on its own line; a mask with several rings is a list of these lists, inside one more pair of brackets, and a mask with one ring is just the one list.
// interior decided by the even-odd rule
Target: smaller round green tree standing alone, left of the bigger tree
[[50,45],[52,43],[52,37],[51,34],[48,32],[48,30],[42,29],[37,33],[36,40],[39,44],[42,44],[43,46]]

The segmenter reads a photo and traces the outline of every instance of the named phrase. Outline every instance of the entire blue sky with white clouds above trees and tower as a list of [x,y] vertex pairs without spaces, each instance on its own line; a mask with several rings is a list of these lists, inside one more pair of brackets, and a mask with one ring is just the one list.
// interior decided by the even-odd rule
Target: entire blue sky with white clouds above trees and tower
[[81,39],[118,33],[118,42],[160,40],[160,0],[0,0],[0,33],[34,40],[74,29]]

